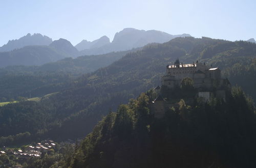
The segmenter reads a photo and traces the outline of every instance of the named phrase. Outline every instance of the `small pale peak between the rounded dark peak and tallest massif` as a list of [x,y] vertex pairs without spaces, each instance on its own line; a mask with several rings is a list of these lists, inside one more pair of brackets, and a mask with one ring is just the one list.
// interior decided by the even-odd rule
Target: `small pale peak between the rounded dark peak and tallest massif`
[[75,47],[81,51],[84,49],[91,49],[91,48],[99,48],[105,44],[109,44],[110,43],[110,39],[106,36],[102,36],[101,38],[94,40],[92,42],[87,41],[87,40],[82,40],[80,43],[78,43],[77,45],[75,45]]

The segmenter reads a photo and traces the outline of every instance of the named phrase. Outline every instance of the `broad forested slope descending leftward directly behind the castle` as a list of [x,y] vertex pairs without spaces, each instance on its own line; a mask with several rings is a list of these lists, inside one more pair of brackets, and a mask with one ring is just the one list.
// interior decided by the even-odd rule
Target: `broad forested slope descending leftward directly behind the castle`
[[[256,44],[245,41],[186,37],[149,44],[126,53],[110,66],[80,77],[67,77],[69,85],[62,80],[63,75],[57,83],[65,83],[65,88],[54,90],[56,85],[49,85],[48,91],[58,93],[42,97],[40,102],[23,101],[0,107],[0,135],[4,138],[28,131],[28,141],[84,137],[109,110],[116,110],[119,104],[160,85],[166,65],[177,58],[184,63],[199,60],[220,67],[232,85],[246,87],[246,94],[254,98],[255,55]],[[71,60],[67,62],[75,59]]]

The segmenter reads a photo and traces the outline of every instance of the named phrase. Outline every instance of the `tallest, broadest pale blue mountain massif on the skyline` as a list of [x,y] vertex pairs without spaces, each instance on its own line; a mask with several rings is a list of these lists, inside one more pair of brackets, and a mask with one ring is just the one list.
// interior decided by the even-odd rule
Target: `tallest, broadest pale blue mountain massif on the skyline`
[[164,43],[176,37],[190,37],[189,34],[170,35],[161,31],[137,30],[126,28],[115,34],[111,43],[98,48],[88,48],[81,51],[82,54],[103,54],[113,51],[124,51],[132,48],[142,47],[148,43]]

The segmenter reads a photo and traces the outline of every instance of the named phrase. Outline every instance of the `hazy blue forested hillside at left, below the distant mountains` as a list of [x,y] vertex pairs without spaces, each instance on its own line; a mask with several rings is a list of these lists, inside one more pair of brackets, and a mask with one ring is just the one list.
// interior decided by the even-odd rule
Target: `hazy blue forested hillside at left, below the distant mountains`
[[0,101],[17,97],[41,97],[67,89],[78,76],[106,67],[126,53],[138,50],[111,52],[102,55],[66,58],[41,66],[8,66],[0,69]]

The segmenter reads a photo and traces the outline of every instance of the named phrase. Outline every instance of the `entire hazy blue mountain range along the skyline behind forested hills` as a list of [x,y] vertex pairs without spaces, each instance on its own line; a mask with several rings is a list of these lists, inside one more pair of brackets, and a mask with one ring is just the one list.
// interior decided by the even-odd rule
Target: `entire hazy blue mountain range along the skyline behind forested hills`
[[0,67],[10,65],[43,65],[63,58],[76,58],[79,55],[105,54],[142,47],[148,43],[163,43],[183,35],[169,35],[160,31],[124,29],[116,33],[112,42],[106,36],[89,42],[81,41],[75,47],[66,39],[52,41],[40,34],[26,35],[9,41],[0,47]]

